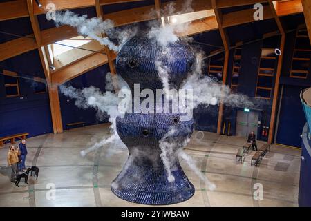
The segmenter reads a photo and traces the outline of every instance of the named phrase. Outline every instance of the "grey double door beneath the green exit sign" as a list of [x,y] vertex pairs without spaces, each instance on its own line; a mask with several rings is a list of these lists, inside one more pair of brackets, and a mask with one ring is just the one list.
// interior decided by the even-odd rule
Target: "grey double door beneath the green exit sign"
[[255,111],[238,111],[236,117],[236,135],[247,137],[251,131],[257,135],[258,131],[258,112]]

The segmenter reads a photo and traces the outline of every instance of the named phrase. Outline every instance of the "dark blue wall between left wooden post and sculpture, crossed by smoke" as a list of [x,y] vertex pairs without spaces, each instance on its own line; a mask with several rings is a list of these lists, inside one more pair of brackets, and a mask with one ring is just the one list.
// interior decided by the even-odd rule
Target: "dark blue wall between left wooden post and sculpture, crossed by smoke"
[[[75,79],[68,81],[66,85],[73,86],[74,88],[88,88],[94,86],[101,91],[105,91],[106,73],[109,72],[108,64],[95,68],[84,75],[80,75]],[[62,111],[63,128],[66,129],[66,124],[73,122],[86,122],[86,125],[100,124],[108,122],[108,118],[98,119],[96,116],[97,111],[94,108],[78,108],[75,105],[75,99],[70,99],[59,93],[59,102]]]

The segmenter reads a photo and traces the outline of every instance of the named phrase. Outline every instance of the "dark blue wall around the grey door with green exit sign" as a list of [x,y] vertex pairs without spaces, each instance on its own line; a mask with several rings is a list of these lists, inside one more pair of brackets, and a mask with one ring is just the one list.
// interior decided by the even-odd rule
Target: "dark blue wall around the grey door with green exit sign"
[[[259,61],[261,57],[261,48],[279,47],[279,37],[273,37],[271,39],[265,39],[265,41],[256,41],[252,44],[245,44],[242,46],[241,50],[241,69],[238,77],[238,93],[247,95],[249,99],[254,103],[254,106],[250,107],[251,111],[258,112],[259,121],[261,124],[258,128],[258,140],[267,140],[267,136],[262,135],[263,126],[269,126],[270,116],[272,110],[272,98],[270,100],[257,99],[256,97],[256,85]],[[228,66],[228,77],[227,84],[231,84],[232,79],[232,67],[234,61],[234,50],[230,50],[229,66]],[[277,64],[277,62],[275,62]],[[274,67],[276,69],[276,65]],[[273,80],[273,85],[274,85]],[[273,90],[272,90],[273,94]],[[238,110],[243,110],[243,108],[249,108],[248,106],[237,106],[237,107],[225,107],[223,122],[231,124],[230,134],[236,134],[236,116]],[[227,128],[226,128],[227,131]]]

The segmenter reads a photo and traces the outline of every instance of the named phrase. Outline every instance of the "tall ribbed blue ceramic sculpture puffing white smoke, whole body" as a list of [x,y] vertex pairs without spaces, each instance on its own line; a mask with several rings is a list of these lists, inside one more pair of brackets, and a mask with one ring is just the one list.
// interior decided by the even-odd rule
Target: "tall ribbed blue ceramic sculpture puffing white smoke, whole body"
[[[169,59],[169,57],[173,59]],[[133,95],[134,84],[140,90],[149,88],[156,94],[162,89],[156,61],[169,67],[169,83],[178,89],[195,61],[194,51],[185,41],[178,40],[162,48],[156,39],[147,36],[133,37],[124,44],[117,55],[117,73],[129,84]],[[111,191],[129,202],[149,205],[176,204],[194,195],[194,186],[187,179],[178,162],[176,151],[193,132],[193,120],[180,120],[180,113],[126,113],[117,117],[117,133],[129,148],[129,158],[111,184]],[[159,142],[166,137],[173,142],[171,173],[175,180],[168,181],[167,171],[161,160]]]

